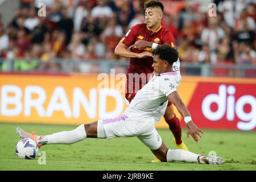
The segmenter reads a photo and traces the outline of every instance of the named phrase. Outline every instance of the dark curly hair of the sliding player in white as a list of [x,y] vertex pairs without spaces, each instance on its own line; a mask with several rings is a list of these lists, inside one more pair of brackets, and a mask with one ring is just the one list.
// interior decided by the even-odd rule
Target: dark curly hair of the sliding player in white
[[171,65],[177,61],[179,57],[177,50],[167,44],[159,45],[152,53],[153,55],[158,55],[160,59],[168,61]]

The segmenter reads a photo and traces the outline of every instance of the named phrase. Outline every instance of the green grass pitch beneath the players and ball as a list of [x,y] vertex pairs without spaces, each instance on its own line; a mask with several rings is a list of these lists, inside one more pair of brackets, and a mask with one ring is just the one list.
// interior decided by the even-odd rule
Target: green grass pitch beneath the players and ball
[[[31,125],[0,123],[0,170],[256,170],[256,133],[255,131],[204,130],[204,139],[196,143],[187,140],[183,129],[183,140],[190,151],[208,155],[215,151],[225,159],[222,165],[203,165],[197,163],[151,163],[154,155],[136,137],[92,139],[88,138],[75,144],[48,145],[40,148],[46,152],[46,164],[34,160],[19,159],[15,154],[18,135],[16,127],[36,130],[37,134],[52,134],[75,129],[76,126]],[[168,148],[175,149],[172,134],[167,129],[158,129]]]

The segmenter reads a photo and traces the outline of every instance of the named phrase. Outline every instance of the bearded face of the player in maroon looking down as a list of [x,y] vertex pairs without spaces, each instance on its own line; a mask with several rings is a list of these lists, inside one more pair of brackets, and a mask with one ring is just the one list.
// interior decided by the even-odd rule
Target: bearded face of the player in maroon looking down
[[159,24],[162,19],[162,10],[158,7],[148,7],[145,11],[145,20],[148,28],[152,28]]

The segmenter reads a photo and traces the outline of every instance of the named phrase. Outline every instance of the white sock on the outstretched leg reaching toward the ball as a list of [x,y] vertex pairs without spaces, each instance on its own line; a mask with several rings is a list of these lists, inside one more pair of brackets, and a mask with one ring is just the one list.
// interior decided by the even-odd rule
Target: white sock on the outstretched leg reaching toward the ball
[[39,144],[71,144],[86,138],[84,125],[80,125],[75,130],[61,131],[52,135],[38,136]]

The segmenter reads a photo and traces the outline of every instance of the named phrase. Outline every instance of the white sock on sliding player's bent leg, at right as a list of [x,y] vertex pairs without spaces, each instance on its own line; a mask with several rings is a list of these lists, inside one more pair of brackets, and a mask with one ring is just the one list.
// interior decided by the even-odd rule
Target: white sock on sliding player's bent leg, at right
[[168,150],[167,151],[167,162],[181,161],[181,162],[199,162],[201,155],[185,151],[185,150]]

